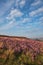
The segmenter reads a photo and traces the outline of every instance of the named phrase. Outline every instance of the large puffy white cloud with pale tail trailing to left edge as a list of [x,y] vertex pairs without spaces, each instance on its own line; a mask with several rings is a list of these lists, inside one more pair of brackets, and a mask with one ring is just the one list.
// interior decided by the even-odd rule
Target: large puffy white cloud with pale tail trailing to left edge
[[18,9],[12,9],[8,16],[6,17],[7,23],[0,27],[0,30],[7,30],[13,26],[17,26],[19,23],[16,21],[15,17],[21,17],[23,13]]

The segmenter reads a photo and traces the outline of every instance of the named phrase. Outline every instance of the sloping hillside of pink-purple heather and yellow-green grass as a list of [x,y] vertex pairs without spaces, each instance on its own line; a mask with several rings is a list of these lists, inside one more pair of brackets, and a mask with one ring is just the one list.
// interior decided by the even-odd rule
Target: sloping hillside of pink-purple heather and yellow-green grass
[[0,65],[43,65],[43,42],[0,36]]

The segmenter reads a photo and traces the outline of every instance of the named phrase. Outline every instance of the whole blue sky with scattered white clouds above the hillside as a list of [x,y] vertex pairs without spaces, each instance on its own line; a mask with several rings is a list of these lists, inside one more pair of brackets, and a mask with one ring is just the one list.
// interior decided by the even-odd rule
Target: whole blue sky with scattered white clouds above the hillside
[[0,35],[43,37],[43,0],[0,0]]

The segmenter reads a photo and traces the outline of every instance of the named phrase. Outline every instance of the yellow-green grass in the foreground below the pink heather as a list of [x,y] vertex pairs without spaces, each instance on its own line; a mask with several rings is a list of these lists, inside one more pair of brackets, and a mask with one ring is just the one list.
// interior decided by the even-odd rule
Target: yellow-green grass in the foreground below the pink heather
[[[5,50],[7,51],[7,50]],[[5,52],[4,51],[4,52]],[[3,50],[0,50],[0,55],[4,54]],[[0,57],[0,65],[43,65],[43,54],[37,54],[34,61],[31,57],[31,52],[26,53],[5,53],[6,58]]]

